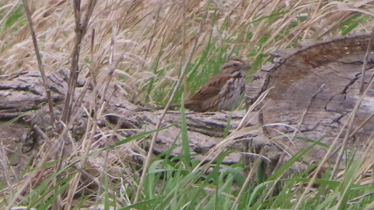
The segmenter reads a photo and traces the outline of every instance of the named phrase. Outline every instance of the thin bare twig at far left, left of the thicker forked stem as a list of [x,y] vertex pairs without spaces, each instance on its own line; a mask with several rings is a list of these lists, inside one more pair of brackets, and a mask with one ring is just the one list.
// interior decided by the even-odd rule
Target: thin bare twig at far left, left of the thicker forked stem
[[55,128],[55,113],[53,112],[52,97],[50,95],[50,90],[49,90],[49,87],[47,85],[47,78],[46,78],[46,74],[45,74],[45,71],[44,71],[42,58],[40,58],[41,53],[39,51],[38,43],[37,43],[37,40],[36,40],[36,34],[35,34],[35,30],[34,30],[33,20],[31,19],[31,13],[30,13],[30,9],[28,8],[28,5],[27,5],[27,0],[23,0],[23,3],[24,3],[25,11],[26,11],[28,24],[30,25],[31,37],[33,38],[34,50],[35,50],[35,54],[36,54],[36,59],[38,61],[39,71],[40,71],[40,74],[42,75],[43,86],[44,86],[44,89],[46,90],[46,93],[47,93],[47,100],[48,100],[48,106],[49,106],[49,116],[50,116],[50,119],[52,120],[52,127]]

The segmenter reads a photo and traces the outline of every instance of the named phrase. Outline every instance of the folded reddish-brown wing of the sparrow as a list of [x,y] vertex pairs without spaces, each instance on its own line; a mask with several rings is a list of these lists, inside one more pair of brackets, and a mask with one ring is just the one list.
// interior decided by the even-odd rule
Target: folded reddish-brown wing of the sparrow
[[197,90],[197,92],[190,98],[190,101],[202,101],[218,95],[221,88],[225,85],[228,79],[227,77],[223,77],[222,75],[219,77],[213,77],[208,84]]

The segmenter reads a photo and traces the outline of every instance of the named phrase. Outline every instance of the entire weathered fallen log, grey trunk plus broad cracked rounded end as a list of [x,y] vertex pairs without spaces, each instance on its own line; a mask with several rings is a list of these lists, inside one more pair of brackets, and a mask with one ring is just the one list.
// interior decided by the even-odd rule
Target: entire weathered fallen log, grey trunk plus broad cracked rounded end
[[[252,131],[247,135],[248,141],[232,143],[233,152],[226,157],[224,163],[232,164],[239,161],[240,151],[260,152],[274,162],[268,167],[274,168],[281,154],[293,155],[305,149],[310,143],[300,138],[293,138],[295,128],[297,137],[310,138],[331,144],[343,127],[350,112],[359,98],[361,68],[368,43],[368,35],[357,35],[347,38],[332,38],[320,43],[306,44],[300,49],[281,50],[272,54],[273,64],[266,64],[254,75],[255,80],[246,87],[246,104],[252,104],[266,89],[272,88],[262,102],[261,114],[255,111],[247,119],[250,125],[282,123],[266,126]],[[305,44],[306,42],[304,42]],[[370,80],[373,71],[372,59],[365,74],[365,83]],[[67,90],[67,71],[58,70],[48,75],[48,86],[55,102],[55,112],[59,117],[62,102]],[[93,102],[93,94],[86,91],[85,80],[79,79],[77,94],[83,95],[74,115],[80,116],[71,126],[73,137],[79,139],[85,132],[88,115],[83,106]],[[321,86],[324,84],[323,88]],[[132,136],[145,130],[153,130],[161,110],[150,110],[130,103],[121,88],[113,88],[109,93],[113,96],[107,109],[99,120],[101,128],[111,127],[110,124],[120,121],[123,129],[118,139]],[[373,89],[370,89],[362,102],[356,117],[354,128],[358,127],[371,113],[373,108]],[[0,138],[6,145],[7,155],[27,154],[17,149],[15,142],[25,140],[25,133],[30,124],[37,124],[42,130],[50,125],[46,94],[40,74],[37,72],[12,74],[0,77],[0,120],[2,132]],[[258,107],[260,108],[260,107]],[[204,154],[214,145],[221,142],[227,120],[232,114],[229,130],[237,127],[245,115],[245,111],[195,113],[187,111],[188,138],[191,154],[202,160]],[[18,118],[12,123],[11,119]],[[248,121],[248,120],[246,120]],[[108,123],[110,122],[110,123]],[[300,125],[299,125],[300,124]],[[165,152],[174,146],[172,155],[181,153],[180,113],[169,111],[162,126],[171,126],[161,130],[156,140],[154,152]],[[114,126],[112,126],[114,127]],[[19,132],[14,132],[18,130]],[[350,147],[359,142],[365,148],[368,137],[373,131],[373,120],[369,120],[350,140]],[[110,133],[110,131],[107,131]],[[102,138],[98,137],[98,138]],[[105,141],[105,138],[102,138]],[[292,140],[292,142],[291,142]],[[244,144],[244,147],[242,146]],[[318,160],[326,150],[321,147],[312,149],[311,160]],[[286,155],[286,156],[287,156]],[[333,162],[333,159],[331,160]],[[17,164],[15,160],[15,164]]]

